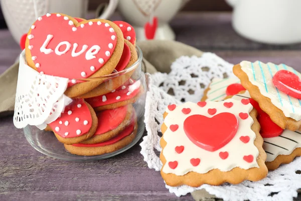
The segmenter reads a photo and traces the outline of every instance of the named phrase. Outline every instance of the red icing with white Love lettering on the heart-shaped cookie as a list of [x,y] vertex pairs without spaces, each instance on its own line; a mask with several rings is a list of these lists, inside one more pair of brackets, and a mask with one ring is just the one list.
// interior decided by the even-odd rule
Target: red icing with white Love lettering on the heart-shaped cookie
[[60,14],[38,18],[27,36],[27,50],[38,71],[73,79],[98,71],[110,59],[117,43],[114,29],[101,21],[78,23]]

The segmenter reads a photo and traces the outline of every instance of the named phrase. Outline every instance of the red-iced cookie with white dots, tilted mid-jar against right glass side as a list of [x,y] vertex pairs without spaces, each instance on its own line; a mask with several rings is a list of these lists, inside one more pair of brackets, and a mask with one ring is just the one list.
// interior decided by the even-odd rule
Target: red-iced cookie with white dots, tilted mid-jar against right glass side
[[142,90],[140,80],[130,78],[116,90],[85,100],[95,111],[111,110],[136,102]]

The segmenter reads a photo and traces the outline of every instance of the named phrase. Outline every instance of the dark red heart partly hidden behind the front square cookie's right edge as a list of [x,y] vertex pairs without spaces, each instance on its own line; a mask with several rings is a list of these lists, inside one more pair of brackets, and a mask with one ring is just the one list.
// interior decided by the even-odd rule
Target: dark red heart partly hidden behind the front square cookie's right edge
[[272,122],[270,117],[261,110],[258,103],[253,98],[250,98],[249,100],[252,106],[257,110],[257,120],[260,124],[260,135],[263,138],[272,138],[281,135],[283,129]]

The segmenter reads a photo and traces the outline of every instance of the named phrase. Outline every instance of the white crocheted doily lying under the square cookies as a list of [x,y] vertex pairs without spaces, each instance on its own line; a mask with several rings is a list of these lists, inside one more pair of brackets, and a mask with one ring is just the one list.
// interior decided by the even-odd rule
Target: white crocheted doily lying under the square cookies
[[[233,77],[233,64],[230,64],[212,53],[204,53],[202,57],[182,56],[171,66],[169,74],[155,73],[146,75],[148,90],[146,93],[144,122],[147,135],[141,142],[141,154],[149,168],[160,171],[162,163],[159,158],[161,125],[163,113],[170,104],[182,102],[198,102],[213,77]],[[168,93],[173,95],[169,95]],[[244,181],[238,185],[221,186],[202,185],[198,188],[190,186],[171,187],[170,192],[177,196],[185,195],[198,189],[206,189],[224,200],[292,200],[301,188],[301,158],[281,165],[270,171],[266,178],[257,181]],[[159,173],[160,174],[160,173]],[[162,180],[163,182],[163,180]]]

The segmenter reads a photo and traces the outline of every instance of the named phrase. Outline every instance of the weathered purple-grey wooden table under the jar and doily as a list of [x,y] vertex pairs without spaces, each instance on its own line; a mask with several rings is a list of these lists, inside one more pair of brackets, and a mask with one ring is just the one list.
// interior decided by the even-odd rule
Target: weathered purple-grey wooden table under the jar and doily
[[[178,41],[231,63],[271,61],[301,71],[300,44],[272,46],[243,39],[232,30],[228,13],[179,14],[171,25]],[[0,30],[0,73],[19,54],[9,31]],[[193,200],[169,193],[160,172],[147,168],[139,143],[107,160],[66,162],[34,150],[12,117],[0,119],[0,137],[0,200]]]

